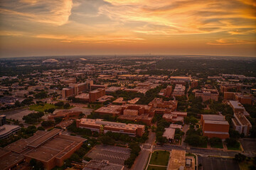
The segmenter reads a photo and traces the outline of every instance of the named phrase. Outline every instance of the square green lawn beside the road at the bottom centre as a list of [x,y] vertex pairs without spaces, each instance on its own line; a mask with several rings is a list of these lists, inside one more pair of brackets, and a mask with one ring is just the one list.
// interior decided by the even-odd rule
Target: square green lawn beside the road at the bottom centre
[[149,164],[167,166],[169,161],[170,152],[155,151],[153,152]]

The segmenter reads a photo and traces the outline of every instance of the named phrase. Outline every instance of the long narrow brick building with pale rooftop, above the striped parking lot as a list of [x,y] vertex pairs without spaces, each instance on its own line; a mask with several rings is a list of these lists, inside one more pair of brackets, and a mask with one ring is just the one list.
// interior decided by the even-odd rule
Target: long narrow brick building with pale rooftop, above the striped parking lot
[[144,125],[114,123],[103,121],[102,119],[82,118],[76,120],[77,128],[86,128],[99,133],[119,132],[130,136],[142,136],[144,133]]

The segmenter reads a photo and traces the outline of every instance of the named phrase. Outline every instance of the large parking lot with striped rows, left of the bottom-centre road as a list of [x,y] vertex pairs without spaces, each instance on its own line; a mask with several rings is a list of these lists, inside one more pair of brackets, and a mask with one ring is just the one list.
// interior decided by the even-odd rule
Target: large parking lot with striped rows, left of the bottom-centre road
[[108,160],[114,164],[124,165],[125,159],[129,158],[130,149],[124,147],[114,147],[110,145],[97,145],[86,157],[92,159]]

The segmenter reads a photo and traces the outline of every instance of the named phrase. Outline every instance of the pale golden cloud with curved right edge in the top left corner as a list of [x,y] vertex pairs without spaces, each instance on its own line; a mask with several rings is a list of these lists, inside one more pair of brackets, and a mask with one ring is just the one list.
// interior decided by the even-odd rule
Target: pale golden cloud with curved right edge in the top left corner
[[62,26],[68,22],[72,0],[3,0],[0,13],[24,21]]

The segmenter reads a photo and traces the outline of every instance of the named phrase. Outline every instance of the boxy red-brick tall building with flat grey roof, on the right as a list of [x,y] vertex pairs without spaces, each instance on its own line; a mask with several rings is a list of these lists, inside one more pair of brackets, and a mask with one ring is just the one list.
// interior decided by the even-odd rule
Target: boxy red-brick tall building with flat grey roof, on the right
[[223,115],[201,115],[201,124],[204,136],[219,137],[220,139],[229,137],[230,125]]

